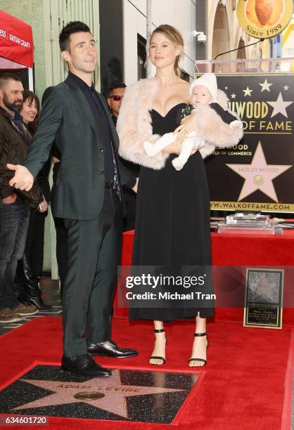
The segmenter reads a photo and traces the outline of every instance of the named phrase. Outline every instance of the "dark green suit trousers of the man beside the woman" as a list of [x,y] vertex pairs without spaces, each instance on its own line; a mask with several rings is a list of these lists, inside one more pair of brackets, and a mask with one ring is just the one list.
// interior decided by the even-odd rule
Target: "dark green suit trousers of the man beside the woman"
[[[68,274],[63,290],[65,356],[87,353],[92,344],[110,339],[113,294],[122,245],[122,205],[106,189],[101,213],[93,220],[65,219]],[[86,325],[87,322],[87,325]]]

